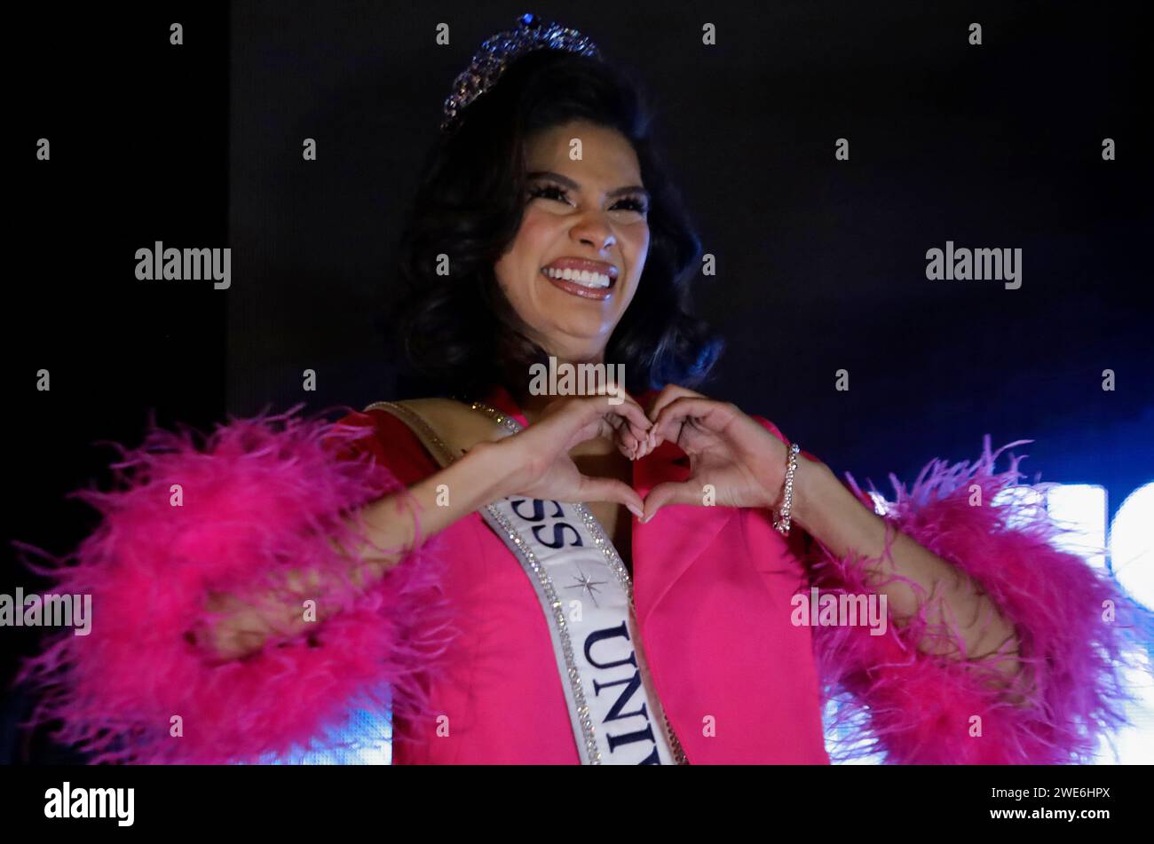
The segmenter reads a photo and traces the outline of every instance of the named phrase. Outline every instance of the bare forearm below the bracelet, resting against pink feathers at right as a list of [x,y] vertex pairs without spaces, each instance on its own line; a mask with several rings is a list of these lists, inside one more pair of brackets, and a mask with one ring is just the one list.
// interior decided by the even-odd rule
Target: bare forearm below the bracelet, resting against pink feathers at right
[[[927,621],[947,624],[961,640],[965,654],[957,653],[942,638],[927,638],[919,645],[922,650],[967,660],[980,660],[999,649],[1017,653],[1013,625],[957,566],[897,530],[892,530],[889,555],[884,553],[885,520],[862,506],[829,467],[800,460],[794,489],[793,520],[832,553],[864,560],[864,570],[878,593],[886,596],[896,624],[900,626],[914,616],[922,601],[941,597],[927,608]],[[921,598],[920,590],[924,590]],[[1018,671],[1018,661],[1012,657],[996,664],[1010,676]]]

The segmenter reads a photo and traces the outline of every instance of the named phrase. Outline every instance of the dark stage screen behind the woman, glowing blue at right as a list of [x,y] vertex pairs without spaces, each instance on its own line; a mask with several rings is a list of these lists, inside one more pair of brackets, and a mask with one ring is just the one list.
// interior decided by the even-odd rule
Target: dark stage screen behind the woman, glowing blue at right
[[[717,258],[698,302],[728,349],[702,392],[878,483],[935,455],[975,457],[988,432],[995,445],[1036,439],[1024,468],[1043,480],[1129,491],[1154,476],[1147,35],[1109,3],[1005,6],[532,10],[594,37],[658,103]],[[397,397],[379,317],[417,166],[449,82],[525,10],[336,8],[233,13],[237,410]],[[715,46],[700,43],[704,21]],[[448,47],[433,43],[439,22]],[[301,160],[306,137],[316,161]],[[848,161],[834,159],[841,137]],[[1102,160],[1104,137],[1117,160]],[[1021,287],[927,280],[926,251],[947,240],[1020,248]],[[315,393],[301,391],[306,369]]]

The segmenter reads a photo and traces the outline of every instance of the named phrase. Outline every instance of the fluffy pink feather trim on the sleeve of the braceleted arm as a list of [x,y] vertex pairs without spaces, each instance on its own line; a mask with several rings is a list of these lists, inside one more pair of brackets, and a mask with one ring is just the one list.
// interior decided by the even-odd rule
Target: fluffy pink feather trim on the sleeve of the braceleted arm
[[[1141,641],[1134,632],[1145,611],[1111,578],[1052,544],[1063,529],[1044,506],[992,504],[1021,477],[1020,457],[1011,455],[1006,472],[994,470],[1013,445],[1019,443],[991,452],[987,437],[973,465],[931,461],[908,491],[891,475],[896,500],[886,503],[885,518],[971,575],[1016,625],[1022,663],[1033,672],[1034,685],[1018,687],[1026,704],[1010,703],[989,685],[1004,677],[990,663],[917,650],[915,642],[945,638],[964,655],[947,624],[927,623],[928,609],[941,598],[926,603],[924,590],[896,575],[892,580],[906,580],[922,603],[907,627],[898,631],[891,618],[884,635],[865,627],[815,628],[815,656],[838,709],[833,725],[848,733],[831,754],[835,761],[882,752],[894,763],[1084,762],[1103,733],[1126,723],[1132,695],[1121,671],[1131,664],[1130,647]],[[981,488],[981,506],[969,504],[972,484]],[[869,594],[877,586],[867,586],[863,560],[838,558],[819,543],[809,563],[822,591]],[[1111,621],[1103,619],[1106,602],[1116,608]],[[1132,626],[1123,618],[1129,610]],[[980,737],[971,734],[973,716],[981,718]]]

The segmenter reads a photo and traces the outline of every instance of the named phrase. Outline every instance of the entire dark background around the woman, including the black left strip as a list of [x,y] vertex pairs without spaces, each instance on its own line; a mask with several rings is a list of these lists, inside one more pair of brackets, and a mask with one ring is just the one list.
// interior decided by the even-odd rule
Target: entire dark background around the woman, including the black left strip
[[[706,394],[879,485],[1019,451],[1043,481],[1154,477],[1149,28],[1138,5],[170,3],[13,13],[2,537],[66,553],[149,413],[406,398],[395,241],[452,77],[523,12],[632,68],[718,274]],[[168,24],[185,45],[168,44]],[[702,24],[718,45],[703,46]],[[451,44],[434,43],[450,25]],[[983,44],[967,43],[982,24]],[[35,159],[39,137],[52,160]],[[305,137],[319,160],[301,159]],[[846,137],[850,160],[834,160]],[[1101,159],[1103,137],[1117,160]],[[232,287],[137,281],[134,253],[231,247]],[[1024,280],[928,281],[926,250],[1022,249]],[[52,390],[36,390],[48,369]],[[305,369],[316,392],[301,389]],[[834,372],[849,370],[849,391]],[[1117,389],[1103,392],[1102,370]],[[1033,478],[1033,474],[1032,474]],[[6,548],[0,591],[40,582]],[[2,628],[0,679],[37,634]],[[0,761],[69,759],[15,722]]]

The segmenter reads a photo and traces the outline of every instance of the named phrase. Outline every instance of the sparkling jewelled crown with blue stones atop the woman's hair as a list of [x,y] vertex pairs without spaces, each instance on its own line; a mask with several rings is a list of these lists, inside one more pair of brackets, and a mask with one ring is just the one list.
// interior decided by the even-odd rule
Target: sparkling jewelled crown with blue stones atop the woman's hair
[[537,50],[560,50],[601,58],[597,45],[577,30],[542,21],[537,15],[524,14],[517,18],[516,29],[497,32],[486,39],[473,54],[469,67],[454,80],[452,93],[444,101],[441,130],[455,131],[460,125],[465,106],[493,88],[514,60]]

